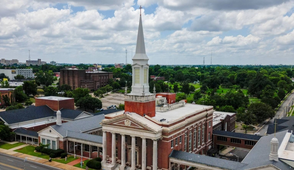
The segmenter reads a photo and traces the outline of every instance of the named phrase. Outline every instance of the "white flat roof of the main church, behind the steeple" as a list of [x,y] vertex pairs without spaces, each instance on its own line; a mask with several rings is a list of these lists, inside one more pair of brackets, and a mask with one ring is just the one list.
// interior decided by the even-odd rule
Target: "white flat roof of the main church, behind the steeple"
[[165,119],[166,121],[175,121],[192,113],[199,112],[204,109],[212,108],[213,106],[206,106],[200,104],[186,103],[183,107],[172,109],[166,112],[156,112],[155,117],[152,119],[160,121]]

